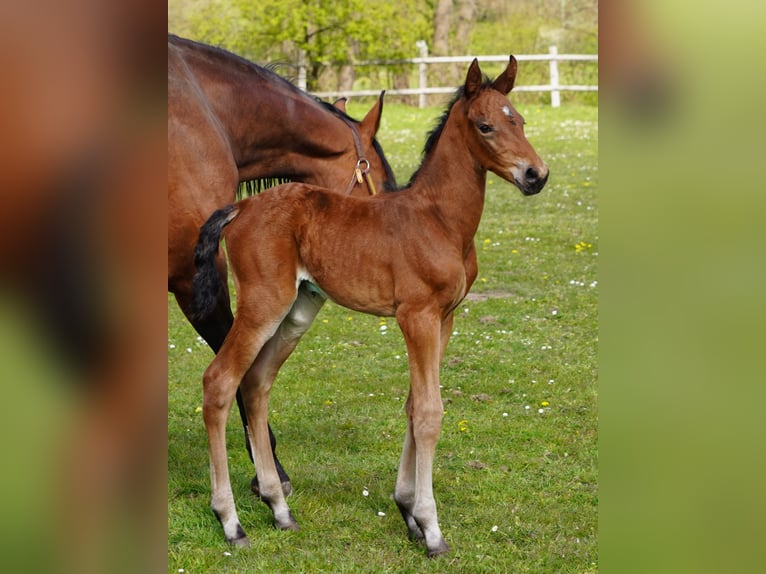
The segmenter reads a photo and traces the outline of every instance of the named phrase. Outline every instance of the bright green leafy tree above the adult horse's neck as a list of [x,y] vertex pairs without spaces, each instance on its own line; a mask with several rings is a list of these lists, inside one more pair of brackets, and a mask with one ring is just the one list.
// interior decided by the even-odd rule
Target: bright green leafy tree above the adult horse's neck
[[257,62],[308,66],[319,88],[327,67],[416,55],[431,21],[428,0],[212,0],[191,16],[196,39]]

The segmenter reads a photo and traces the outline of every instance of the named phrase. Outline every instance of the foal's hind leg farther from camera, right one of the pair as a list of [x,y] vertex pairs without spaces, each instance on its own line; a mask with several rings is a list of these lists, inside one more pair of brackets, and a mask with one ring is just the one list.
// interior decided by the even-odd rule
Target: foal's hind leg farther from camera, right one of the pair
[[253,483],[259,487],[261,499],[274,513],[275,525],[283,530],[296,530],[298,524],[284,501],[284,489],[279,488],[274,465],[271,464],[268,457],[265,460],[259,460],[258,453],[263,452],[265,446],[261,445],[260,449],[256,446],[259,437],[256,425],[265,424],[268,414],[268,393],[274,379],[280,367],[295,349],[301,336],[311,326],[324,302],[325,297],[322,294],[308,284],[302,284],[290,312],[274,336],[261,349],[242,384],[247,412],[251,417],[248,428],[251,429],[251,440],[255,446],[257,475],[253,479]]

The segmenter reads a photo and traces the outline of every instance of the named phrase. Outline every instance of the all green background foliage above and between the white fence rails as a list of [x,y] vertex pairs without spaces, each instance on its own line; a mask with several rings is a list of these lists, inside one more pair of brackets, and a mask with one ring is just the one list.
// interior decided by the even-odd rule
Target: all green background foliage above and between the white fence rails
[[[472,54],[598,52],[595,0],[487,0],[477,2]],[[416,43],[433,36],[434,0],[171,0],[169,29],[222,46],[250,60],[297,64],[304,58],[309,90],[335,88],[342,65],[409,59]],[[303,55],[302,55],[303,54]],[[459,55],[459,54],[453,54]],[[561,64],[563,83],[597,82],[593,64]],[[429,73],[436,67],[431,66]],[[392,86],[395,74],[417,81],[415,66],[355,66],[356,89]],[[499,71],[499,68],[498,68]],[[547,63],[529,65],[526,84],[548,83]],[[594,93],[562,94],[568,102],[597,104]],[[549,101],[528,94],[521,101]]]

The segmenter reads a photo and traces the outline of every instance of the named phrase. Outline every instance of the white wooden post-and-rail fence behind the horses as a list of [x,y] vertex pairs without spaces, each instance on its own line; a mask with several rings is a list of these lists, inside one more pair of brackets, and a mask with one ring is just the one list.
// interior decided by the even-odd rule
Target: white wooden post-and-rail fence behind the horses
[[[428,66],[432,64],[461,64],[470,63],[474,56],[428,56],[428,48],[425,42],[418,42],[420,57],[409,60],[383,60],[378,62],[366,62],[359,66],[393,66],[412,64],[418,66],[417,88],[394,88],[386,89],[387,95],[410,96],[416,95],[418,106],[426,106],[426,96],[429,94],[451,94],[455,91],[454,86],[431,87],[428,86]],[[507,62],[508,56],[478,56],[482,62]],[[559,54],[556,46],[551,46],[547,54],[521,54],[516,56],[519,62],[549,62],[550,82],[544,85],[515,86],[517,92],[550,92],[551,106],[557,108],[561,105],[561,92],[597,92],[598,85],[567,85],[559,81],[559,62],[598,62],[598,54]],[[298,86],[306,89],[306,67],[298,65]],[[380,90],[330,90],[325,92],[312,92],[320,98],[341,98],[353,96],[377,96]]]

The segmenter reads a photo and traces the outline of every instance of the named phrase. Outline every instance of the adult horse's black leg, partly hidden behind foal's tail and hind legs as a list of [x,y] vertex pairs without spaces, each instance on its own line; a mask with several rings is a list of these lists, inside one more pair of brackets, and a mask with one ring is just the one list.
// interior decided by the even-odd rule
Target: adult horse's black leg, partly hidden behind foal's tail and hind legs
[[[216,264],[219,273],[221,274],[223,284],[227,285],[228,278],[226,273],[226,260],[223,257],[218,257],[216,259]],[[176,301],[178,302],[178,306],[181,308],[181,311],[192,324],[197,333],[199,333],[200,336],[205,339],[214,353],[218,353],[218,350],[221,348],[221,345],[223,345],[226,334],[229,332],[229,329],[231,328],[231,325],[234,321],[234,316],[231,313],[231,304],[229,302],[229,292],[227,289],[222,290],[221,297],[218,300],[216,308],[211,315],[205,317],[202,320],[192,319],[191,276],[193,275],[193,269],[190,270],[187,275],[187,279],[177,278],[175,281],[173,281],[173,294],[176,297]],[[237,407],[239,409],[239,416],[242,420],[242,427],[245,431],[245,447],[247,448],[247,452],[250,455],[250,460],[253,460],[253,452],[250,446],[250,440],[247,431],[247,415],[245,413],[245,405],[242,402],[242,394],[240,393],[239,389],[237,389],[236,398]],[[282,465],[279,462],[279,458],[277,458],[277,441],[276,438],[274,438],[271,427],[269,427],[269,435],[271,438],[271,451],[274,456],[274,463],[282,481],[282,489],[285,491],[285,496],[289,496],[292,492],[290,477],[282,468]],[[251,488],[253,488],[256,494],[258,494],[257,481],[255,478],[253,478],[253,484],[255,485],[255,488],[253,488],[253,485],[251,485]]]

